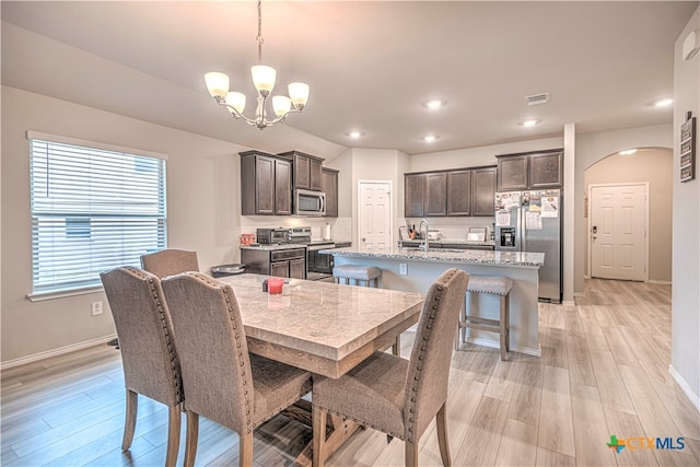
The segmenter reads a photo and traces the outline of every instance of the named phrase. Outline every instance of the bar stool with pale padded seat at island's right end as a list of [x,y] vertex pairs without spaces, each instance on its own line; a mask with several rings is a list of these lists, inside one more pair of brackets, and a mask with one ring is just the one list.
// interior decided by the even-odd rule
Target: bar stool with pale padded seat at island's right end
[[[506,352],[510,351],[510,293],[513,288],[513,280],[501,276],[474,276],[469,275],[465,304],[459,312],[459,323],[457,325],[457,337],[455,338],[455,350],[459,350],[459,335],[462,342],[466,341],[466,329],[485,330],[498,332],[500,335],[501,360],[506,360]],[[467,315],[467,302],[472,293],[488,293],[499,295],[500,312],[499,319],[482,318],[480,316]]]

